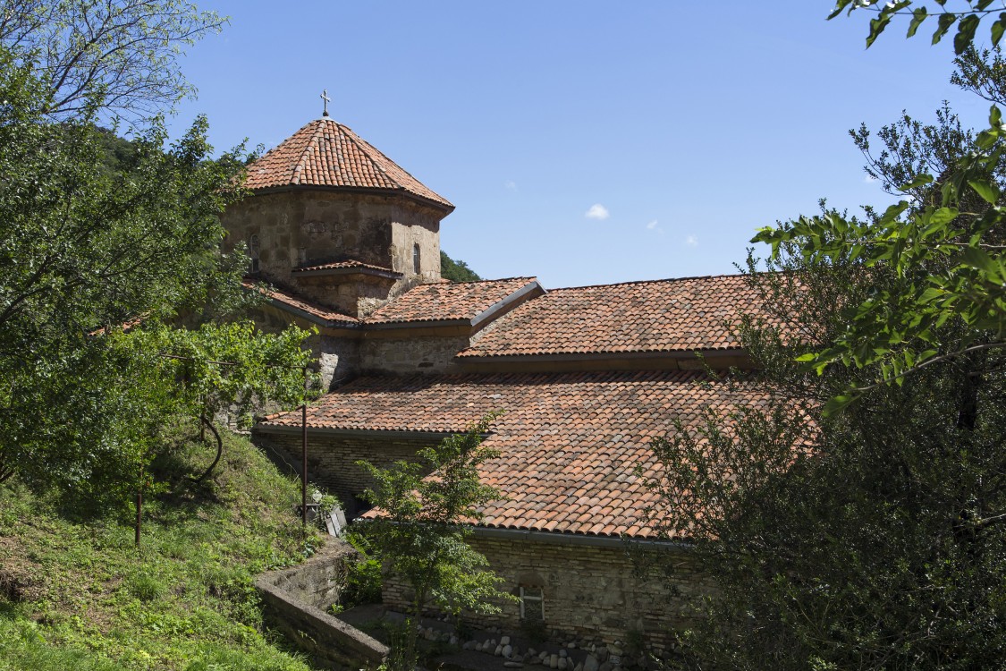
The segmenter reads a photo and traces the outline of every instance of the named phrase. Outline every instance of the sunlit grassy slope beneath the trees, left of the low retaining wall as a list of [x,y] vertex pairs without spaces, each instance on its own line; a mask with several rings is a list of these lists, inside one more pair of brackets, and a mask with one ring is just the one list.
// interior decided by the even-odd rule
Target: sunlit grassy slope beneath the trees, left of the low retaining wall
[[[318,542],[294,516],[299,485],[225,443],[211,482],[148,502],[139,551],[128,511],[73,519],[0,485],[0,671],[310,668],[264,631],[252,583]],[[205,447],[172,454],[175,473],[207,462]]]

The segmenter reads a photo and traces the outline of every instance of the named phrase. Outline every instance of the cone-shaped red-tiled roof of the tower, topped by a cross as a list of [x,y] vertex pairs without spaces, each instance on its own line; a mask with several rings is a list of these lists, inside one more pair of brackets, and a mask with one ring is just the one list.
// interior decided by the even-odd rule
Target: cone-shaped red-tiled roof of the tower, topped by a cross
[[450,212],[438,195],[352,130],[316,119],[248,166],[253,190],[291,186],[382,189],[404,192]]

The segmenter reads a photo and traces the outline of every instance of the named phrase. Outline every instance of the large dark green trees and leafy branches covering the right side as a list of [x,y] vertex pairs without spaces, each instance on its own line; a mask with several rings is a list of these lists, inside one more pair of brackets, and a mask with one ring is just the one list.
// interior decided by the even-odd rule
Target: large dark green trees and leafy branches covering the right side
[[[954,80],[998,103],[1000,57],[970,40]],[[964,131],[946,108],[933,126],[904,116],[876,156],[855,132],[867,171],[903,200],[754,238],[772,248],[771,272],[749,276],[771,319],[740,338],[763,366],[744,384],[765,400],[654,443],[662,505],[649,521],[689,538],[720,585],[688,637],[696,668],[973,669],[1006,656],[995,107],[990,126]]]

